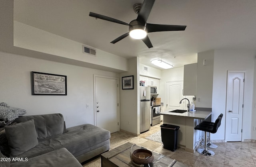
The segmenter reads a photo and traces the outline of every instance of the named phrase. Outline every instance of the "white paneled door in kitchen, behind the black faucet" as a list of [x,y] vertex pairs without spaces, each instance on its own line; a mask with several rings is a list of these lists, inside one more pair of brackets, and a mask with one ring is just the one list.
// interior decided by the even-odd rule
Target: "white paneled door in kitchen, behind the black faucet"
[[[184,110],[184,100],[180,104],[180,100],[185,98],[183,96],[183,81],[166,82],[166,111],[180,109]],[[185,101],[188,103],[187,101]]]

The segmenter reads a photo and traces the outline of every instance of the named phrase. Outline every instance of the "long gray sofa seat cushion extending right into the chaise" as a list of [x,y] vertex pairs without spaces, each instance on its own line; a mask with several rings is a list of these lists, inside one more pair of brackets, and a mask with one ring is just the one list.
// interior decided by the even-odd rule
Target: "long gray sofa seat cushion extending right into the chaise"
[[[65,147],[75,156],[78,156],[98,143],[110,138],[110,132],[91,124],[84,124],[67,128],[66,133],[51,138],[38,139],[38,145],[18,157],[35,157],[44,153]],[[80,153],[80,154],[79,154]]]

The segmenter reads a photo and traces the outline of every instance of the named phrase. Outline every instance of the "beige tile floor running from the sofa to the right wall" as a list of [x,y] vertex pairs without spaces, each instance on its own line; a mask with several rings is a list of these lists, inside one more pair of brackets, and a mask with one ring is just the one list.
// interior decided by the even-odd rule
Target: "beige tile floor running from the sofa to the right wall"
[[[216,143],[218,148],[212,149],[214,156],[188,153],[182,148],[174,152],[164,149],[162,143],[145,139],[147,136],[160,130],[160,125],[153,126],[148,132],[140,136],[132,136],[124,132],[111,134],[110,149],[114,149],[126,142],[136,143],[172,159],[176,159],[190,167],[256,167],[256,142],[227,142]],[[83,167],[100,167],[100,156],[82,163]]]

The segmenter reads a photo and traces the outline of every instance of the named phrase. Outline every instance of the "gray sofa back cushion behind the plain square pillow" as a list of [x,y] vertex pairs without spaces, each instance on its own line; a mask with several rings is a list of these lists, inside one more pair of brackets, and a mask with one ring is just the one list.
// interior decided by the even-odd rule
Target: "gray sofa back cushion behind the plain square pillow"
[[44,114],[33,116],[22,116],[14,120],[20,123],[34,119],[38,139],[45,139],[66,131],[62,114]]

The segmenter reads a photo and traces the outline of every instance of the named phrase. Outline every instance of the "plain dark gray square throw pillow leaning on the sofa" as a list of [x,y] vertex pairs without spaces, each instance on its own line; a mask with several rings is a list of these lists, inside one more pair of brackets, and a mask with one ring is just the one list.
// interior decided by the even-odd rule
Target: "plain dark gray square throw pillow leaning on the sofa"
[[34,119],[4,128],[12,156],[20,155],[38,145]]

